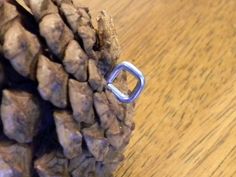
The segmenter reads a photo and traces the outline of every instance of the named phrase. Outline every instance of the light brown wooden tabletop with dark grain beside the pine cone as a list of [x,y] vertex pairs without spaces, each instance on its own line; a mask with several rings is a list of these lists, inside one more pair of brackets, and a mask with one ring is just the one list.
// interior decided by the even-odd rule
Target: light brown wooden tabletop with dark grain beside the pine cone
[[236,177],[236,1],[81,2],[114,17],[147,79],[115,176]]

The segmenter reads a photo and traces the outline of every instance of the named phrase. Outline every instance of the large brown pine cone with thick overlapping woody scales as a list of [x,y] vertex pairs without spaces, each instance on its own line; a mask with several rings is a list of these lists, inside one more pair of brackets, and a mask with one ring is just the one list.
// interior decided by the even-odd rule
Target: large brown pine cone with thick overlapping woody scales
[[[110,177],[134,129],[133,104],[105,77],[120,55],[114,24],[98,29],[77,0],[0,0],[0,176]],[[126,73],[115,80],[129,93]]]

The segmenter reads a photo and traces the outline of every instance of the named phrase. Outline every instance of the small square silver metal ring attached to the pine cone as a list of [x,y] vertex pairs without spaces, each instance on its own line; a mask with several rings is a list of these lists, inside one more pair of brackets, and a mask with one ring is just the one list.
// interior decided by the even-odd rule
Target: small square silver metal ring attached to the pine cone
[[[119,75],[119,73],[122,71],[128,71],[130,74],[132,74],[138,79],[138,83],[130,95],[122,93],[118,88],[116,88],[112,84],[113,81],[116,79],[116,77]],[[142,72],[139,71],[133,64],[126,61],[117,65],[107,78],[107,88],[117,97],[117,99],[120,102],[123,103],[131,103],[135,99],[137,99],[140,96],[141,92],[143,91],[144,86],[145,86],[145,78]]]

